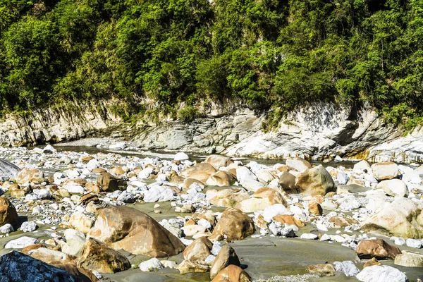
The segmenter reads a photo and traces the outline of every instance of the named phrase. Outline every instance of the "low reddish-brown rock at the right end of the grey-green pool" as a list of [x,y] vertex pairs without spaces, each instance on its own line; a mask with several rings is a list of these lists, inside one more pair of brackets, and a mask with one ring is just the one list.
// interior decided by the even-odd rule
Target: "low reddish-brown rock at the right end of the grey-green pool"
[[395,259],[401,253],[398,247],[389,245],[382,239],[361,240],[355,252],[360,259]]

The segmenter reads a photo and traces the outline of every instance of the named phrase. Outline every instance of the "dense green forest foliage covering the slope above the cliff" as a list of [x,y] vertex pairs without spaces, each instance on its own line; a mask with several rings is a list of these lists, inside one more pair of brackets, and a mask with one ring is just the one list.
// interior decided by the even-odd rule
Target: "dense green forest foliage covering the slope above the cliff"
[[240,99],[275,116],[367,101],[416,118],[423,1],[0,0],[3,109],[110,97]]

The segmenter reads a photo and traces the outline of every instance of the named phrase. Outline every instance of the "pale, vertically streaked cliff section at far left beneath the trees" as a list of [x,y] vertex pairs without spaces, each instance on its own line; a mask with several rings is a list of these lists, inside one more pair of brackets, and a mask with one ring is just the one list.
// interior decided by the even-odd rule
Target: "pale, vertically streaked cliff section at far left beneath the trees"
[[58,109],[37,109],[7,114],[0,121],[0,146],[38,145],[80,139],[87,134],[121,123],[109,104],[73,104]]

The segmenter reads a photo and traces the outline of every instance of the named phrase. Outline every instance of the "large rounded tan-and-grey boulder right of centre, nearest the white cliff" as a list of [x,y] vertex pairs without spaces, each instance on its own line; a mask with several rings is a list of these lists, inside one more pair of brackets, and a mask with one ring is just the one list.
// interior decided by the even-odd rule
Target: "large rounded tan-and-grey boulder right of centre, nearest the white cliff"
[[326,195],[328,192],[335,192],[336,187],[332,176],[324,166],[319,165],[309,168],[295,178],[295,186],[303,195]]

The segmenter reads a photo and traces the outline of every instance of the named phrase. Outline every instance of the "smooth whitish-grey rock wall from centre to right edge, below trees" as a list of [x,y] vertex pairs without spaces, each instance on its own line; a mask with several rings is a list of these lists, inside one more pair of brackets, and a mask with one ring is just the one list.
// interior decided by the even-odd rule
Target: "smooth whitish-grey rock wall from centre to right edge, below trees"
[[263,121],[264,114],[244,108],[192,123],[170,121],[142,128],[133,140],[143,149],[216,152],[233,157],[423,161],[423,129],[403,137],[403,128],[384,123],[366,105],[347,109],[315,103],[288,114],[269,133],[262,130]]

